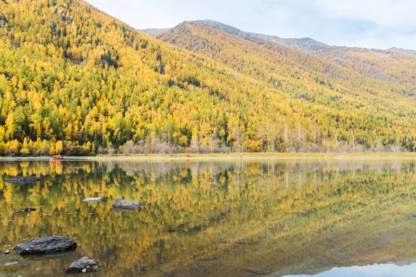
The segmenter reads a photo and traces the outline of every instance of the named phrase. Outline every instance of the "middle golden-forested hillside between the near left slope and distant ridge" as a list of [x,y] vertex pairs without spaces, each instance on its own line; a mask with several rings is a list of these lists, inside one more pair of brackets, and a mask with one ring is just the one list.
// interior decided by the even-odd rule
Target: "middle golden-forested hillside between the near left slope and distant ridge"
[[[371,145],[368,141],[374,143],[374,137],[381,134],[399,134],[401,131],[392,131],[390,128],[395,129],[397,124],[406,125],[406,122],[414,118],[414,111],[411,111],[413,107],[407,107],[414,101],[413,94],[404,93],[408,84],[401,86],[397,82],[368,78],[336,62],[265,39],[257,38],[254,43],[248,42],[197,22],[184,22],[159,38],[220,60],[241,74],[267,82],[291,98],[303,100],[303,106],[299,109],[305,113],[311,112],[308,107],[315,109],[311,112],[312,117],[327,126],[316,131],[313,126],[302,124],[300,129],[306,129],[307,136],[312,140],[319,133],[318,139],[331,137],[332,141],[351,142],[360,137],[360,143]],[[406,83],[406,79],[403,80]],[[319,111],[318,107],[322,107],[322,110]],[[296,134],[296,126],[299,127],[300,121],[289,122],[293,126],[293,137],[296,140],[304,134],[302,130]],[[374,132],[373,124],[374,127],[377,125],[386,129]],[[373,131],[369,133],[370,129]],[[402,135],[406,136],[407,132],[413,132],[413,127],[406,129]],[[390,137],[388,140],[395,143],[400,139]]]

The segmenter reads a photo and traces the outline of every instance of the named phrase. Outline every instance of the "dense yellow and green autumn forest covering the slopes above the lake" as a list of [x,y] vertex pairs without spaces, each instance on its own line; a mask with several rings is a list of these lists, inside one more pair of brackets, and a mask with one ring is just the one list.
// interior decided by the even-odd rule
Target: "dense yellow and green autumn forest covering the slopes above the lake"
[[0,154],[416,150],[410,55],[161,39],[80,0],[0,1]]

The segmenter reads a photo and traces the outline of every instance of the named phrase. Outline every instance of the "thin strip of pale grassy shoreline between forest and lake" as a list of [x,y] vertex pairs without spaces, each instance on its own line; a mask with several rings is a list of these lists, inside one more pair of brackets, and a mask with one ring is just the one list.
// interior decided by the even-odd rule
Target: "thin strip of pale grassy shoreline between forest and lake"
[[[0,161],[49,161],[50,157],[0,157]],[[231,153],[231,154],[105,154],[64,157],[64,161],[233,161],[292,159],[416,159],[416,153]]]

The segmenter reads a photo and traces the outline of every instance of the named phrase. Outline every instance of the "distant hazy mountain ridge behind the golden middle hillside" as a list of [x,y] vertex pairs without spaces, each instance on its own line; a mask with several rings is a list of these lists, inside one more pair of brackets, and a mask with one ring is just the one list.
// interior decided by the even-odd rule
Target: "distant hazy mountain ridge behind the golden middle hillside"
[[[212,20],[192,21],[189,23],[214,28],[260,45],[268,45],[264,43],[264,40],[267,40],[268,42],[279,44],[281,46],[295,48],[336,63],[366,77],[374,78],[376,80],[410,84],[412,87],[407,90],[412,91],[411,93],[415,91],[415,60],[411,60],[409,63],[406,61],[406,56],[395,55],[395,53],[392,53],[392,51],[397,53],[411,53],[411,51],[400,51],[400,49],[397,48],[389,49],[389,51],[381,51],[365,48],[328,46],[327,44],[323,44],[322,42],[310,38],[282,39],[269,35],[244,32],[232,26]],[[183,24],[180,24],[175,28],[180,28],[182,25]],[[171,29],[171,31],[174,31],[175,28]],[[156,37],[162,36],[164,33],[168,33],[168,31],[165,30],[164,32],[160,31],[158,33],[159,35],[156,35]]]

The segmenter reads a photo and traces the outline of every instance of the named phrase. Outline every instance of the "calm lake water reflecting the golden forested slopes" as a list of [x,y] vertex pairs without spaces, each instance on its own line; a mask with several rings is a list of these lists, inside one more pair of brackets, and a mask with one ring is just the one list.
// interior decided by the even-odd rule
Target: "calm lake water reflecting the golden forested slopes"
[[[0,276],[62,276],[83,256],[104,265],[94,276],[415,276],[415,170],[406,160],[0,161],[1,180],[42,179],[0,181],[0,250],[48,235],[78,242],[55,256],[0,255]],[[119,212],[116,198],[146,204]]]

